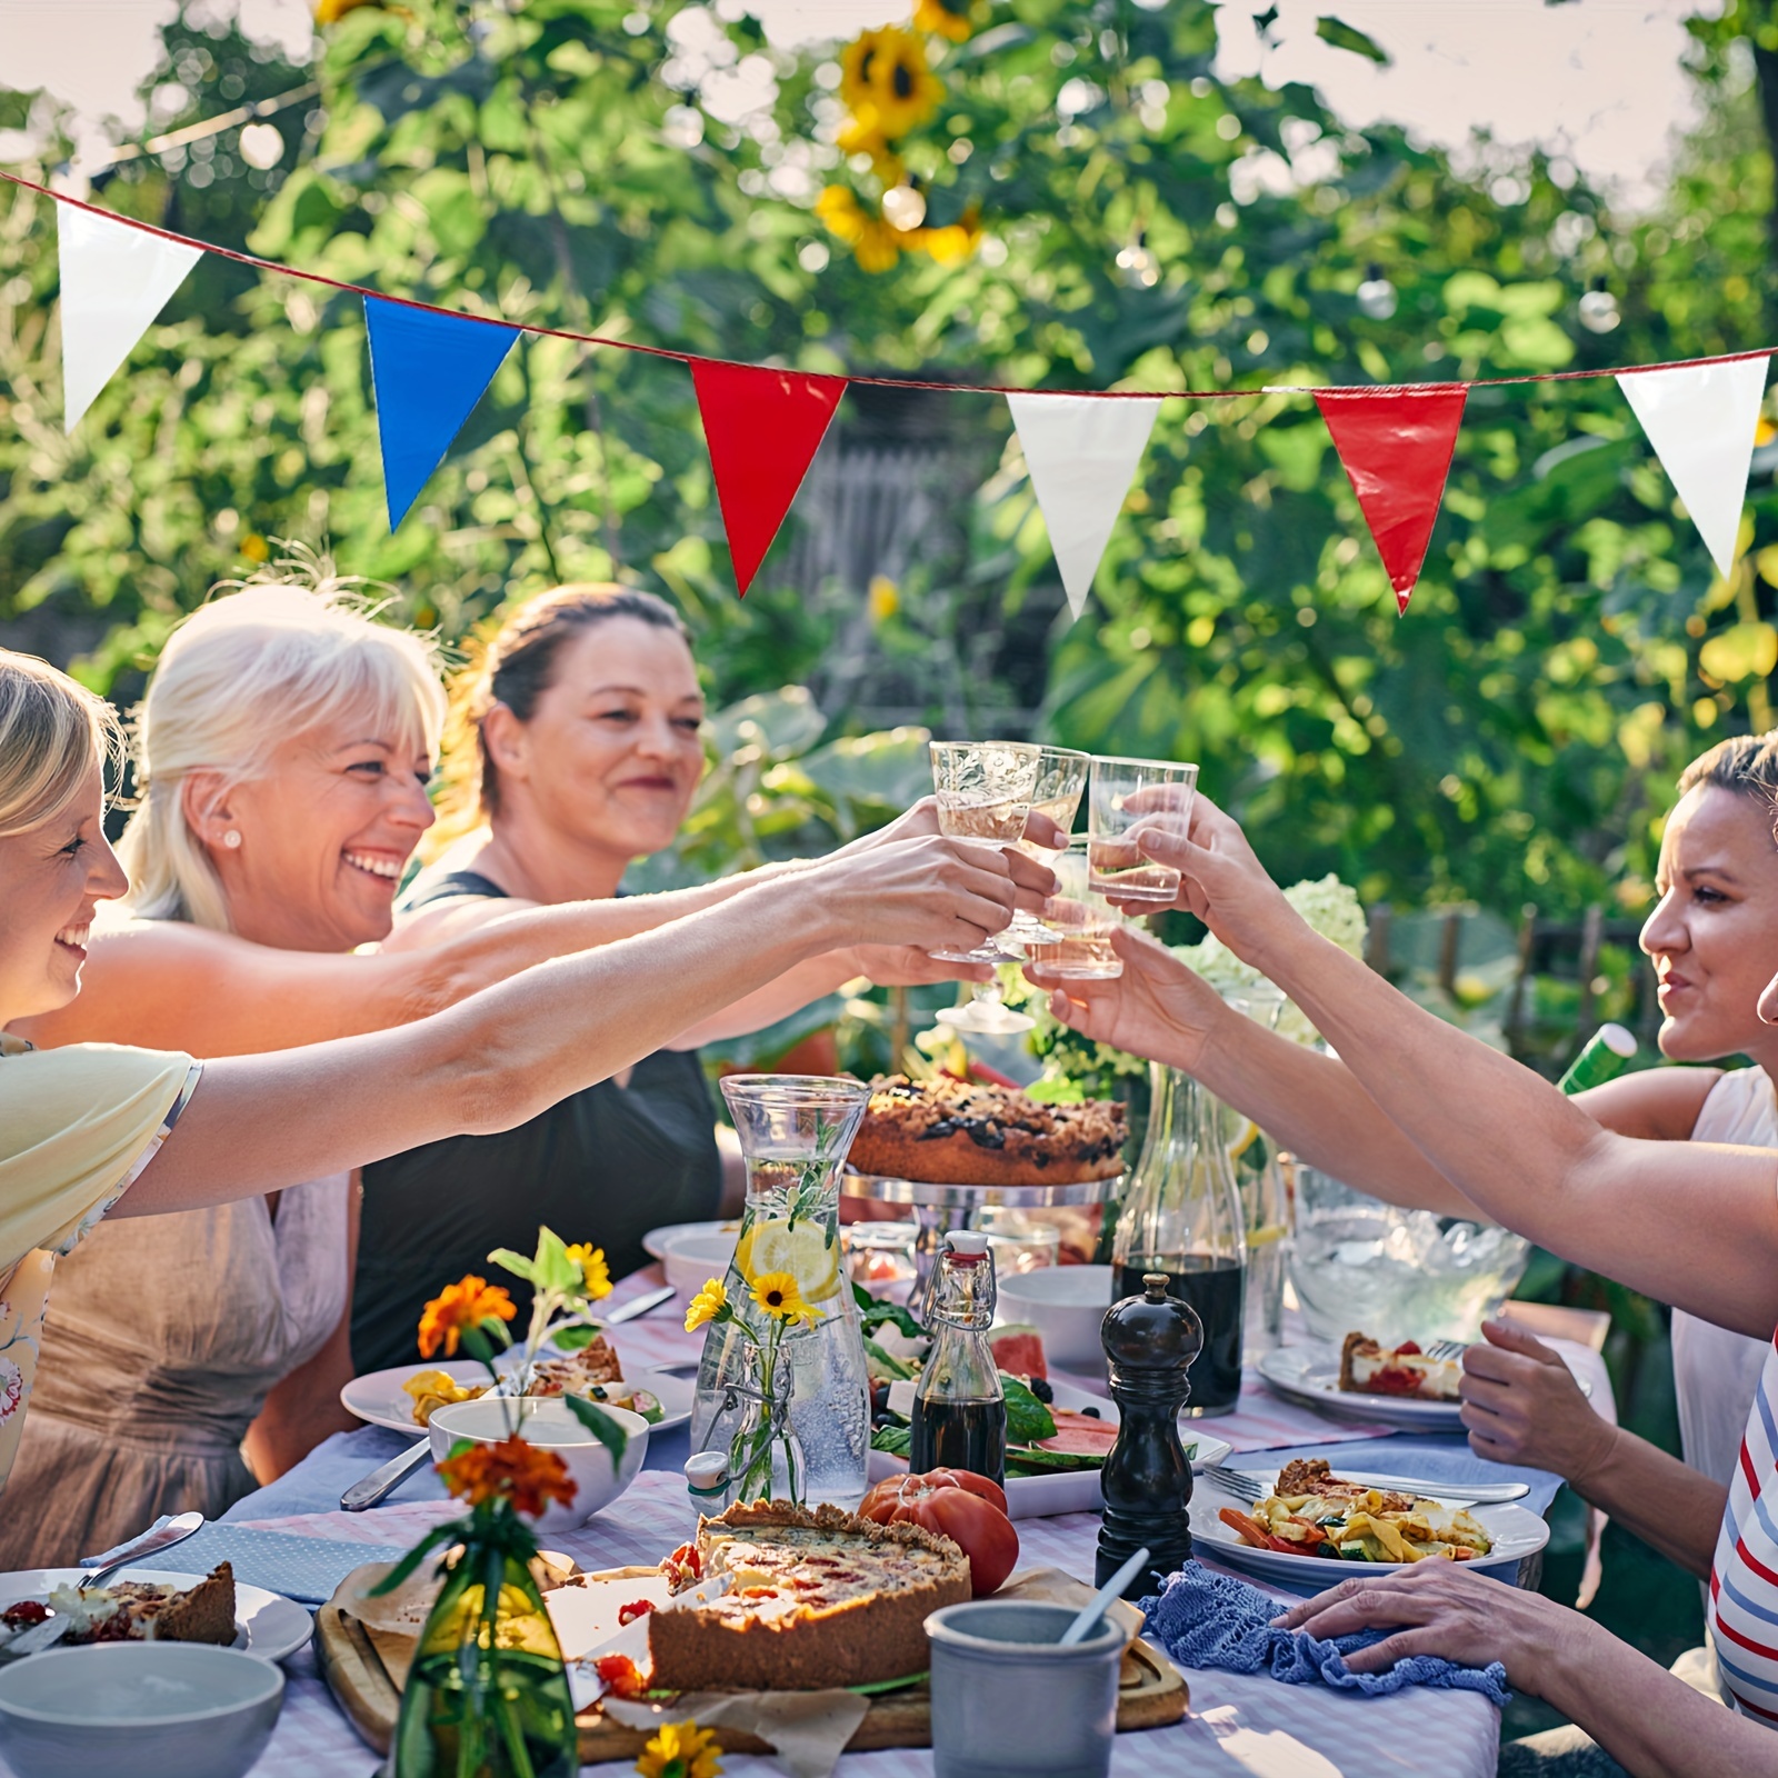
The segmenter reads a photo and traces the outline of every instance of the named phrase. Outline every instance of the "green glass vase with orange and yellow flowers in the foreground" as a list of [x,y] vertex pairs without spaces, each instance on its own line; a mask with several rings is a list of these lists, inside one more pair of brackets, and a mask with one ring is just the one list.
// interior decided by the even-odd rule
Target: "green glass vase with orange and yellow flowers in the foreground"
[[[605,1255],[567,1246],[541,1229],[537,1253],[500,1250],[491,1259],[533,1291],[532,1319],[516,1362],[507,1323],[517,1307],[501,1285],[466,1277],[427,1303],[420,1350],[455,1357],[459,1348],[487,1369],[493,1396],[510,1401],[507,1437],[493,1444],[459,1440],[439,1476],[466,1513],[436,1526],[373,1588],[389,1593],[434,1550],[443,1581],[402,1687],[389,1748],[391,1778],[573,1778],[580,1769],[574,1703],[562,1648],[532,1574],[537,1536],[528,1520],[551,1501],[574,1499],[574,1481],[555,1451],[521,1435],[519,1392],[539,1353],[585,1346],[597,1337],[592,1303],[610,1291]],[[594,1401],[569,1394],[574,1417],[622,1460],[628,1435]]]

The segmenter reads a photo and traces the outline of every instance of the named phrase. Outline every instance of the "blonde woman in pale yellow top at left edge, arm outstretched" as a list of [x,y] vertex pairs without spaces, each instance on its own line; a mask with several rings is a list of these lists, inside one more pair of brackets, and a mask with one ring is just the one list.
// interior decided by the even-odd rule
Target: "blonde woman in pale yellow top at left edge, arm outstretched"
[[[126,887],[103,829],[110,733],[91,693],[0,651],[0,1028],[76,997],[94,910]],[[455,1131],[510,1127],[827,951],[978,944],[1049,885],[1017,853],[910,839],[750,885],[391,1031],[206,1063],[110,1044],[32,1051],[5,1037],[0,1486],[25,1428],[55,1257],[107,1213],[212,1209]],[[128,1323],[156,1296],[212,1287],[185,1268],[142,1271],[110,1314]],[[5,1518],[18,1517],[9,1501]]]

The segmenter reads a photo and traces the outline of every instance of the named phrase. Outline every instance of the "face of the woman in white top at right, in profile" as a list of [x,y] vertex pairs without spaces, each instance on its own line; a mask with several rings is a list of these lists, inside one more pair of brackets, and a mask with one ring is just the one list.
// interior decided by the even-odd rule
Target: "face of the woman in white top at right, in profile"
[[1757,1053],[1773,1033],[1758,1001],[1778,967],[1778,846],[1773,809],[1700,784],[1675,804],[1661,841],[1661,901],[1643,925],[1675,1061]]

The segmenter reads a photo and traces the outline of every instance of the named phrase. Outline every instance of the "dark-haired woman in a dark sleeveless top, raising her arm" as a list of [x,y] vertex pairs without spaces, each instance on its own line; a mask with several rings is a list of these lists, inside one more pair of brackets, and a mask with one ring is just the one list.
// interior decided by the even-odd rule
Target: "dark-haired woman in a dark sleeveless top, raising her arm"
[[[560,587],[530,601],[453,692],[444,770],[473,823],[416,878],[393,948],[461,939],[539,903],[619,894],[631,861],[672,845],[704,772],[704,697],[685,626],[647,592]],[[914,818],[917,825],[919,818]],[[715,1214],[715,1108],[695,1045],[756,1029],[852,976],[933,980],[916,953],[845,953],[779,978],[635,1069],[494,1138],[430,1143],[364,1177],[352,1360],[414,1357],[443,1280],[539,1223],[605,1248],[613,1277],[642,1236]],[[523,1305],[521,1305],[523,1307]]]

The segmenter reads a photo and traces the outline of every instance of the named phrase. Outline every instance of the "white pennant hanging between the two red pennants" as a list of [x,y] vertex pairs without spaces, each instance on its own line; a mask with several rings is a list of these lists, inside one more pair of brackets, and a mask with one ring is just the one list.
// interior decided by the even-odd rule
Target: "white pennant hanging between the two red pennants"
[[1159,396],[1008,395],[1031,489],[1049,526],[1069,610],[1079,617],[1124,496],[1149,448]]

